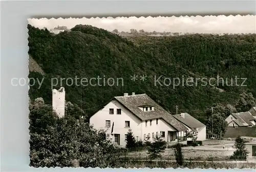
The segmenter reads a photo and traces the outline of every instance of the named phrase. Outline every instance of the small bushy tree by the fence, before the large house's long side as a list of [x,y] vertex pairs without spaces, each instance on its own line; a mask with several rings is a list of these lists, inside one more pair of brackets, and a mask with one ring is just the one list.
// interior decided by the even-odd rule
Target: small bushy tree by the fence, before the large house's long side
[[166,142],[162,140],[159,136],[156,136],[156,138],[154,138],[154,141],[147,148],[150,159],[157,159],[158,161],[158,158],[162,157],[161,153],[164,152],[165,148]]

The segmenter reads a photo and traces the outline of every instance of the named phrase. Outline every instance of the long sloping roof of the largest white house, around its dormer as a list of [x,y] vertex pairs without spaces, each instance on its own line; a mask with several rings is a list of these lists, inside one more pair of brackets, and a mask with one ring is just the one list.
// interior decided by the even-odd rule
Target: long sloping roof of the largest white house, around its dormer
[[[137,94],[131,96],[117,96],[114,97],[126,109],[130,110],[135,116],[141,120],[150,120],[162,118],[165,122],[172,125],[178,131],[186,131],[187,128],[179,122],[176,118],[170,115],[158,103],[148,97],[146,94]],[[154,111],[144,112],[139,107],[143,105],[154,106]]]

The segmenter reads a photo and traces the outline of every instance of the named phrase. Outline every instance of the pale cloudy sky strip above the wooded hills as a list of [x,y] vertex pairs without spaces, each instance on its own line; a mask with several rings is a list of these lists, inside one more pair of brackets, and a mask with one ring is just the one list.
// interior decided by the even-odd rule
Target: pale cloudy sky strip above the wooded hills
[[108,31],[130,32],[130,29],[143,29],[147,32],[182,33],[255,33],[256,15],[236,16],[180,16],[180,17],[103,17],[103,18],[30,18],[30,25],[37,28],[53,29],[57,26],[92,25]]

